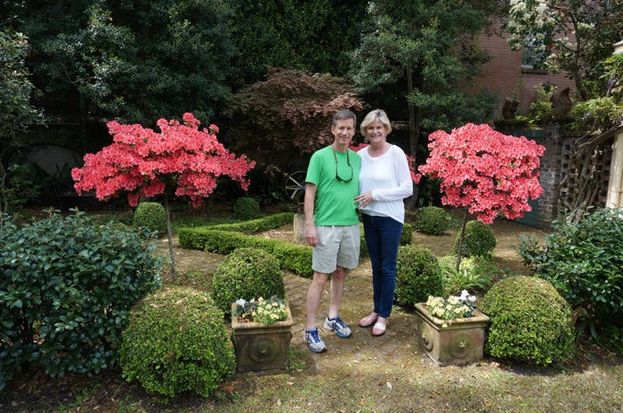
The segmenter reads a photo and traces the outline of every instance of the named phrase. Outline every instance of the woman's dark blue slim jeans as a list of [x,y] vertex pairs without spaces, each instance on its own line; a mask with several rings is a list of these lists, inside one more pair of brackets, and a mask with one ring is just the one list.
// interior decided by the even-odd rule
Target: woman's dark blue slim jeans
[[374,312],[388,318],[392,314],[393,292],[396,290],[396,258],[402,224],[389,217],[361,214],[361,218],[372,263]]

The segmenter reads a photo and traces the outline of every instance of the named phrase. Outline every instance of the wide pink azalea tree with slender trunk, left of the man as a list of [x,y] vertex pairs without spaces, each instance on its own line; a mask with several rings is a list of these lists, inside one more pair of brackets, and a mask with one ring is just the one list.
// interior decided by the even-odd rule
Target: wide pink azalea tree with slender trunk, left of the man
[[97,154],[85,155],[85,165],[74,168],[71,177],[78,194],[94,190],[102,201],[127,195],[128,203],[136,206],[141,197],[163,195],[175,279],[169,197],[186,195],[197,208],[221,176],[247,190],[245,175],[255,162],[228,152],[216,139],[218,127],[211,124],[199,130],[199,121],[190,113],[183,115],[183,123],[160,119],[157,124],[159,132],[140,124],[107,123],[113,143]]

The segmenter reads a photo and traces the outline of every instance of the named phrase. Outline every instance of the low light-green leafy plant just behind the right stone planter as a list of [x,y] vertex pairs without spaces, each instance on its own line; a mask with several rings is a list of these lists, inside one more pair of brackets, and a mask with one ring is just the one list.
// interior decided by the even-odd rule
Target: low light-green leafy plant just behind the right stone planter
[[498,266],[481,257],[463,258],[457,271],[457,257],[440,258],[443,275],[444,297],[459,295],[462,290],[487,290],[493,277],[499,273]]

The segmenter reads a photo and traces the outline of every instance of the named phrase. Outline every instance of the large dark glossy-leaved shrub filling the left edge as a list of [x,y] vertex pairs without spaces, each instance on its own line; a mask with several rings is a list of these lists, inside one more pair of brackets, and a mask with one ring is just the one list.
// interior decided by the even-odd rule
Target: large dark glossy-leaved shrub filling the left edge
[[[0,228],[0,372],[28,362],[51,376],[112,367],[134,303],[161,263],[134,231],[82,215]],[[3,386],[0,377],[0,388]]]

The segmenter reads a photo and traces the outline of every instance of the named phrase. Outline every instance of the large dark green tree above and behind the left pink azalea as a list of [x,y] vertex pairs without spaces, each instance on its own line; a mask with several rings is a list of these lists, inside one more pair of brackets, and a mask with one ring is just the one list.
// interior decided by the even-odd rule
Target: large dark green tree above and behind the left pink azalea
[[229,96],[230,12],[214,0],[33,0],[22,28],[60,115],[206,121]]

